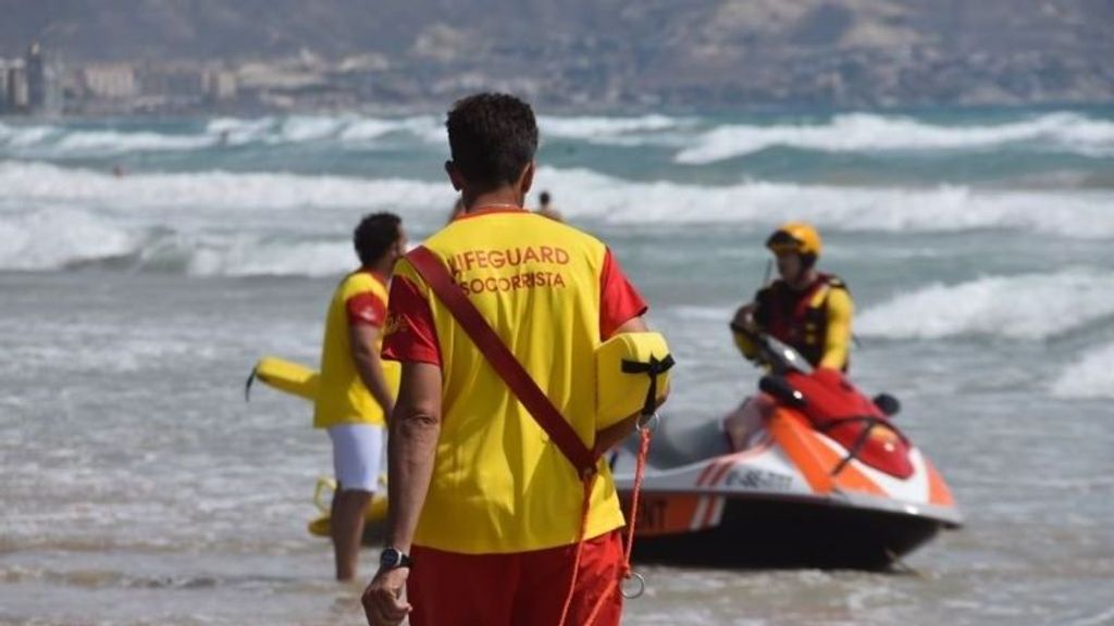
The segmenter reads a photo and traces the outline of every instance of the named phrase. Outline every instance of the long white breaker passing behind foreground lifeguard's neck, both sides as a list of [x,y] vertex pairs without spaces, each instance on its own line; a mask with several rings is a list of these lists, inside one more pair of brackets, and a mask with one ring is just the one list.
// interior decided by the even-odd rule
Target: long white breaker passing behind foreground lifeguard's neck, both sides
[[[765,228],[792,216],[841,232],[1003,229],[1114,238],[1114,212],[1110,211],[1114,195],[1110,192],[843,188],[761,182],[716,187],[631,182],[555,168],[541,168],[537,184],[538,188],[561,189],[559,208],[582,224]],[[270,261],[252,261],[254,254],[271,254],[263,248],[251,252],[253,246],[321,241],[340,245],[360,213],[394,211],[403,214],[416,232],[432,231],[443,223],[455,197],[447,183],[403,178],[219,170],[117,178],[91,169],[20,162],[0,162],[0,188],[4,189],[0,196],[0,268],[16,270],[145,260],[153,254],[163,258],[170,246],[177,250],[175,258],[184,255],[194,260],[186,264],[192,272],[248,272],[275,266]],[[1081,229],[1078,224],[1087,224],[1087,228]],[[168,243],[150,235],[166,232],[187,238]],[[233,235],[241,237],[236,244],[241,247],[231,243]],[[221,237],[217,247],[224,251],[216,261],[203,245],[214,236]],[[275,243],[276,236],[284,243]],[[324,272],[334,266],[330,260],[344,256],[323,252],[315,247],[317,243],[300,244],[305,247],[297,265],[310,267],[306,273]],[[190,246],[196,250],[190,252]],[[340,271],[343,265],[335,267]],[[996,288],[994,284],[990,280],[985,286]]]

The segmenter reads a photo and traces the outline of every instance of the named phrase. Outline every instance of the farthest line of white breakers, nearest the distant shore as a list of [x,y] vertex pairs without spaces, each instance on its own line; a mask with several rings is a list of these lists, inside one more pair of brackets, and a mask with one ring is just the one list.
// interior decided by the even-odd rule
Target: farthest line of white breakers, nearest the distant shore
[[[538,124],[543,140],[670,146],[676,149],[674,160],[688,165],[745,157],[774,147],[819,153],[985,151],[1019,147],[1089,157],[1114,156],[1114,121],[1067,111],[979,125],[934,124],[878,114],[773,124],[716,124],[706,118],[665,115],[541,116]],[[71,158],[300,144],[351,149],[374,148],[391,137],[426,149],[443,149],[446,139],[442,118],[433,115],[225,117],[173,130],[153,130],[131,121],[100,127],[0,124],[0,155]]]

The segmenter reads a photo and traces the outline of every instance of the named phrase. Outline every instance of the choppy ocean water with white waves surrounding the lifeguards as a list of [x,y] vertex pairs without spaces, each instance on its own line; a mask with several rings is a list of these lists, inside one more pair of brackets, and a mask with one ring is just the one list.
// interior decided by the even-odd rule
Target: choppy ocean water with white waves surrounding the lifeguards
[[[675,350],[667,419],[753,389],[726,320],[771,228],[810,219],[854,378],[902,400],[967,518],[912,573],[645,568],[625,624],[1114,624],[1114,110],[541,133],[537,188]],[[443,224],[446,158],[434,116],[0,121],[0,623],[361,622],[305,531],[326,438],[243,382],[316,361],[361,214]]]

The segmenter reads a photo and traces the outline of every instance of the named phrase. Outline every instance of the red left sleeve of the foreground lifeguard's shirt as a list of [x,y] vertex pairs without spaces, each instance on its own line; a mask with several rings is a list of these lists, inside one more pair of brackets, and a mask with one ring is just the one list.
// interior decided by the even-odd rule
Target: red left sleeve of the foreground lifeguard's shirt
[[421,291],[403,276],[391,281],[387,332],[383,336],[383,359],[441,364],[437,327],[429,302]]

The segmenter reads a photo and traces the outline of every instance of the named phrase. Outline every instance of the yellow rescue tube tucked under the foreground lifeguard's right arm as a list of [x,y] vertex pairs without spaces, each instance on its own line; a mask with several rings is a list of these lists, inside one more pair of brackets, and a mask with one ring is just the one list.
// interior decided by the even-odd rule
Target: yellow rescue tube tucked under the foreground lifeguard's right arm
[[619,333],[596,349],[597,428],[605,429],[643,410],[651,388],[659,402],[670,389],[673,358],[662,333]]

